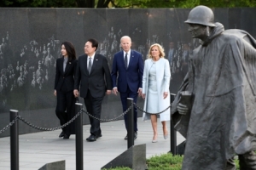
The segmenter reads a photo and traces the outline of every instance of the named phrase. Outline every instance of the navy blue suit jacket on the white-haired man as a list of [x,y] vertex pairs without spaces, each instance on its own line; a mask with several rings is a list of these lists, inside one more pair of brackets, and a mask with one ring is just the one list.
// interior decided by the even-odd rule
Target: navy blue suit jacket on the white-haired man
[[127,85],[132,92],[142,88],[143,79],[143,56],[137,51],[131,50],[131,57],[128,68],[125,68],[124,51],[113,55],[111,71],[113,88],[117,87],[120,93],[125,93]]

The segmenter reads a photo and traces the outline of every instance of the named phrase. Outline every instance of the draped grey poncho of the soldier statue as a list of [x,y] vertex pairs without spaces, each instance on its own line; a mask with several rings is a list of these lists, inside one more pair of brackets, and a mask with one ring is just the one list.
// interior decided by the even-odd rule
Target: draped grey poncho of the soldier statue
[[[172,105],[183,134],[183,169],[223,170],[236,154],[256,149],[256,42],[246,31],[220,23],[189,57],[189,72]],[[192,94],[186,116],[177,112],[181,91]]]

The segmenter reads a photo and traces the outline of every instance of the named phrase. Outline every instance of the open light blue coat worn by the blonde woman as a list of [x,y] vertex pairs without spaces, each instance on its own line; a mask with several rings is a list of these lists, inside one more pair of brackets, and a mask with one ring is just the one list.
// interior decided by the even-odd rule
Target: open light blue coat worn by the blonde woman
[[[146,111],[147,108],[147,100],[148,100],[148,77],[149,77],[149,69],[153,65],[152,59],[146,59],[144,64],[143,71],[143,94],[146,94],[144,108],[143,111]],[[155,62],[156,67],[156,82],[157,82],[157,92],[158,99],[155,99],[155,102],[159,102],[158,111],[164,111],[168,106],[170,106],[170,79],[171,79],[171,71],[169,61],[164,58],[160,58],[157,62]],[[168,96],[164,99],[164,92],[168,92]],[[150,104],[152,105],[152,104]],[[148,114],[143,112],[143,121],[150,119]],[[160,122],[170,121],[170,108],[160,114]]]

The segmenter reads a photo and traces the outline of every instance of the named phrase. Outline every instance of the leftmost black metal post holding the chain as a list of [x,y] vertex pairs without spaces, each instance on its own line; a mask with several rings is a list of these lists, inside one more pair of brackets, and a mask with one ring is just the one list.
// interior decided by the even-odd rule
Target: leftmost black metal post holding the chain
[[[19,111],[9,111],[9,122],[13,122]],[[19,170],[19,122],[10,127],[10,169]]]

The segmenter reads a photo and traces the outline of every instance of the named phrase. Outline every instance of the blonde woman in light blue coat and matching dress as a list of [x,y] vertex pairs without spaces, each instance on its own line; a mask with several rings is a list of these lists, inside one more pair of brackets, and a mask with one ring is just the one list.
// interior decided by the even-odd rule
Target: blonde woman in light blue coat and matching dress
[[[154,136],[152,142],[157,142],[157,115],[170,106],[169,85],[171,71],[168,59],[165,59],[164,49],[158,43],[154,43],[148,52],[143,71],[143,121],[151,119]],[[160,122],[163,126],[164,139],[168,138],[166,121],[170,121],[170,108],[160,114]]]

